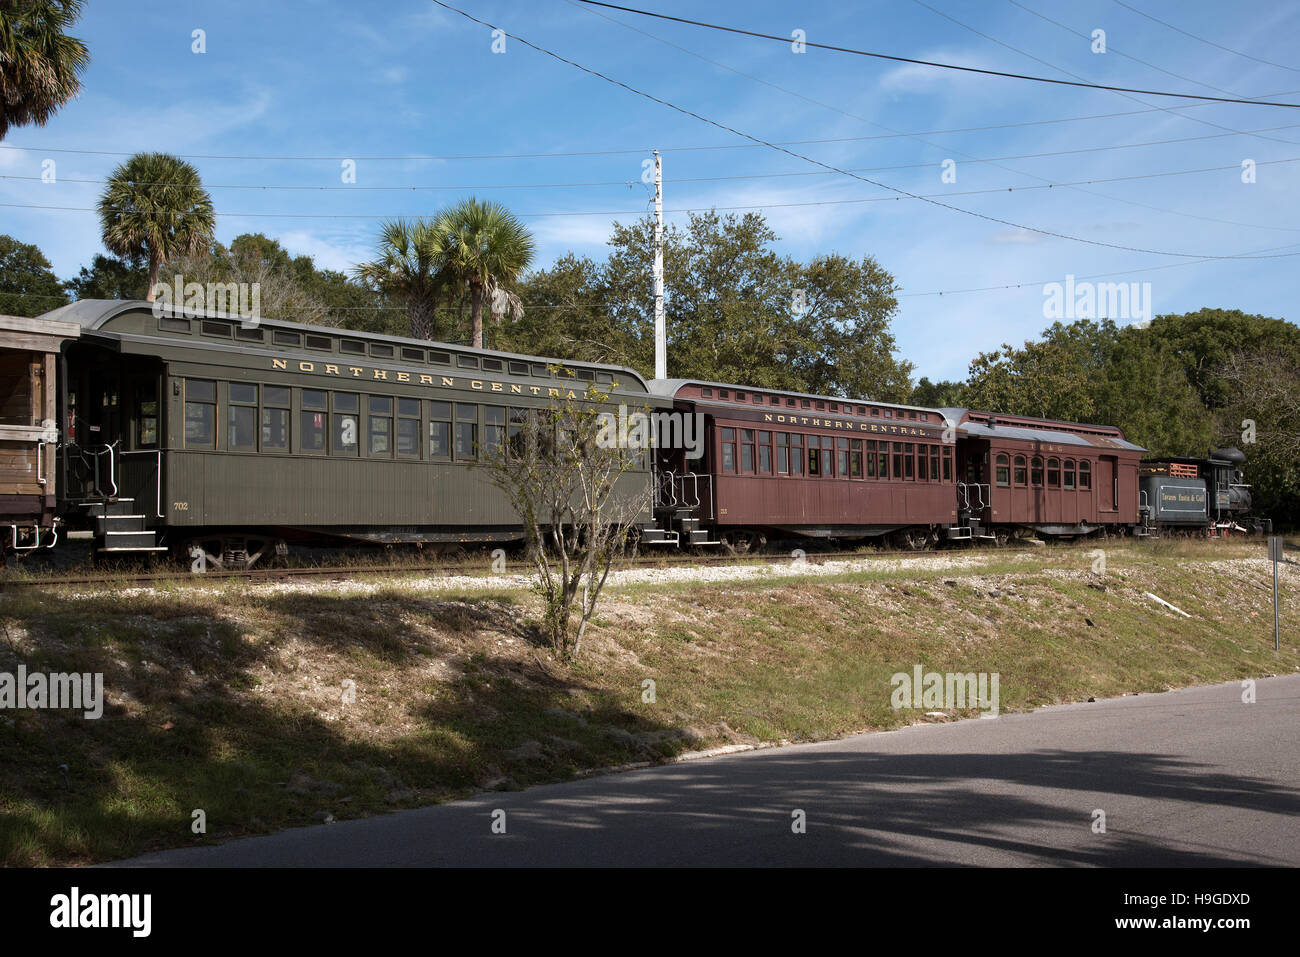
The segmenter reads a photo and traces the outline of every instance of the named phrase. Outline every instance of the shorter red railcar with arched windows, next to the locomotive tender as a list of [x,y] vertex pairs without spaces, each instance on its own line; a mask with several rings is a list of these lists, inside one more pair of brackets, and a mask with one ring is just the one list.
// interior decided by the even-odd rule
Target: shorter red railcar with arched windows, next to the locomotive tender
[[1138,523],[1138,462],[1145,451],[1110,425],[965,408],[957,424],[961,527],[1005,541],[1123,533]]

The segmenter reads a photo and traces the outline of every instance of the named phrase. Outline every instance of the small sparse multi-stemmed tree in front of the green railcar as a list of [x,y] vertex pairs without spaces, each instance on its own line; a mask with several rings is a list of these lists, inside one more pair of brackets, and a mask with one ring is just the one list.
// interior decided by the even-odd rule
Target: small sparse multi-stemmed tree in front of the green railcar
[[582,393],[552,390],[546,408],[523,416],[512,411],[508,437],[489,450],[484,465],[528,534],[534,588],[545,606],[542,631],[569,661],[577,658],[610,568],[647,505],[647,482],[620,481],[647,452],[619,441],[619,429],[611,428],[619,415],[608,399],[588,384]]

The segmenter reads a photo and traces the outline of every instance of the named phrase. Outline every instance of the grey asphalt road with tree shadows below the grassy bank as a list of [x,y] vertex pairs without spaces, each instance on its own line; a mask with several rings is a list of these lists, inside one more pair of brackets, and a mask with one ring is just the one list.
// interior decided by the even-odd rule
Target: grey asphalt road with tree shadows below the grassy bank
[[[1243,703],[1232,683],[914,726],[121,865],[1295,867],[1300,675],[1256,693]],[[491,830],[498,809],[506,833]]]

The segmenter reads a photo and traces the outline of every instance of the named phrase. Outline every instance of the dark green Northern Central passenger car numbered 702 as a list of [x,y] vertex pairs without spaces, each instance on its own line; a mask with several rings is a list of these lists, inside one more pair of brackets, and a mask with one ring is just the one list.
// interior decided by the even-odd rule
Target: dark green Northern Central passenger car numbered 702
[[[200,547],[250,566],[292,540],[521,537],[485,450],[529,408],[658,403],[633,371],[280,320],[82,300],[65,350],[62,508],[100,551]],[[650,507],[647,464],[620,494]]]

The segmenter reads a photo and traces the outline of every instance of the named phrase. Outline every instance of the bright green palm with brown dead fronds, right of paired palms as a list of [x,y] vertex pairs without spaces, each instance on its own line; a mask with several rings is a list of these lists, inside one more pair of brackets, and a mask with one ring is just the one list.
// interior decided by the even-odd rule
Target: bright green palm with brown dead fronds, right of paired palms
[[484,303],[494,315],[523,316],[519,296],[506,289],[533,261],[533,237],[506,207],[467,199],[437,218],[448,281],[469,291],[474,348],[484,347]]

